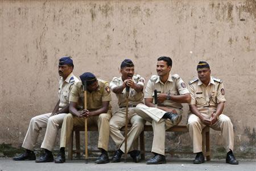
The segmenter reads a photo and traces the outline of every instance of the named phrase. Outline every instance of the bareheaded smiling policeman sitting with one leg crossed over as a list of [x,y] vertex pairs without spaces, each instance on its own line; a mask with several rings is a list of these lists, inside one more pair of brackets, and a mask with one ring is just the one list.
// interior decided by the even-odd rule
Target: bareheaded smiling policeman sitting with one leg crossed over
[[[159,57],[156,65],[158,75],[152,75],[145,91],[145,104],[138,104],[136,112],[139,116],[152,123],[154,138],[152,153],[154,157],[147,164],[166,163],[164,143],[166,130],[179,124],[183,106],[181,103],[190,102],[191,97],[185,83],[179,75],[171,75],[172,59]],[[154,104],[154,89],[159,92],[158,106]]]

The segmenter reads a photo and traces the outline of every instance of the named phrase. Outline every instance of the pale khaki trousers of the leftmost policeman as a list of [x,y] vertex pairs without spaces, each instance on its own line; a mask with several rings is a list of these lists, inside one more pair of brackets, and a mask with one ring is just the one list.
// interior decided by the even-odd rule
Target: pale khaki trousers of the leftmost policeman
[[60,113],[55,116],[51,116],[51,113],[46,113],[33,117],[30,120],[30,125],[28,126],[27,134],[24,138],[22,147],[33,151],[40,130],[46,127],[46,134],[44,135],[41,148],[52,151],[57,132],[60,129],[66,115],[67,113]]

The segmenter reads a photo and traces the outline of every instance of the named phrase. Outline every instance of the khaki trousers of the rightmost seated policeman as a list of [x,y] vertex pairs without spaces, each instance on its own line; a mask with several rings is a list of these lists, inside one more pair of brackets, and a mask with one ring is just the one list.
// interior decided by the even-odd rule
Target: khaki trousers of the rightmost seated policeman
[[[203,114],[205,117],[210,118],[210,114],[214,112],[213,109],[203,109],[200,111],[201,114]],[[195,114],[190,114],[188,118],[188,129],[189,129],[189,135],[191,139],[193,140],[193,152],[201,152],[202,151],[202,130],[204,129],[205,125],[199,117],[197,117]],[[221,131],[222,136],[224,138],[224,148],[226,149],[226,152],[228,152],[230,149],[233,151],[234,148],[234,131],[233,131],[233,124],[230,121],[230,118],[228,116],[225,116],[225,114],[220,114],[218,116],[218,120],[216,123],[214,123],[212,126],[210,126],[212,129]]]

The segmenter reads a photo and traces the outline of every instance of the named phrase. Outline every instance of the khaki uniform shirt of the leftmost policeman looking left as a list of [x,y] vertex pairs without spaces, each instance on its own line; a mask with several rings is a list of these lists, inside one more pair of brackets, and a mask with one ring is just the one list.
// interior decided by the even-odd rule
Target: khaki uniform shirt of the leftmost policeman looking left
[[76,76],[73,75],[73,73],[69,74],[65,80],[63,80],[62,77],[60,78],[60,81],[59,81],[59,100],[60,100],[59,110],[68,105],[71,88],[72,88],[73,84],[75,84],[77,82],[79,82],[79,79],[76,78]]

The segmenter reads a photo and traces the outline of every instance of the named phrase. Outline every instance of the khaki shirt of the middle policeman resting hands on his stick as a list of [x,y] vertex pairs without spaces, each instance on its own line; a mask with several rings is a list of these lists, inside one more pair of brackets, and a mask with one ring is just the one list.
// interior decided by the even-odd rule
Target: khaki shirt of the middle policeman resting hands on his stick
[[[135,84],[141,85],[144,87],[144,82],[145,79],[141,76],[141,75],[134,75],[133,76],[133,81]],[[118,86],[122,86],[123,84],[123,80],[122,80],[122,76],[117,78],[114,77],[113,80],[110,82],[110,89],[113,91],[113,89],[115,87]],[[117,95],[117,99],[118,99],[118,106],[119,107],[123,107],[126,106],[126,89],[123,89],[123,92],[121,94],[115,94]],[[129,106],[135,106],[138,104],[143,104],[143,97],[144,97],[144,93],[143,91],[141,92],[137,92],[135,91],[135,89],[130,88],[130,92],[129,92]]]

